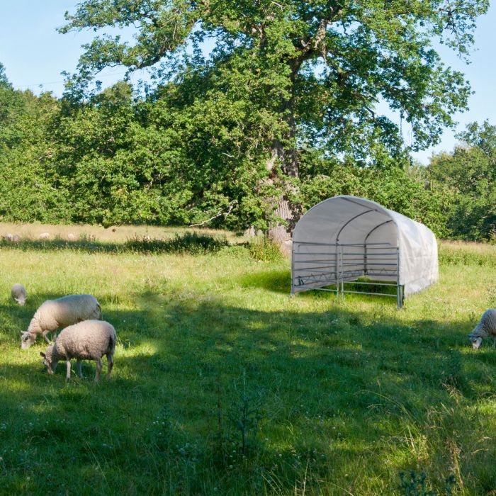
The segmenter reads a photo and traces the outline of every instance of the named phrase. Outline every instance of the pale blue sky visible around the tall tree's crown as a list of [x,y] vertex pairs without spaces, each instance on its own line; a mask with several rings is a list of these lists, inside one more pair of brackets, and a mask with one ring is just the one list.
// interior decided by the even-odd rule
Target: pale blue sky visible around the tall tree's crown
[[[74,0],[0,0],[0,62],[6,75],[16,89],[30,89],[36,94],[52,91],[60,96],[64,89],[62,71],[74,72],[81,45],[89,43],[94,33],[68,33],[61,35],[57,28],[64,25],[64,12],[74,12],[78,1]],[[422,164],[429,163],[432,154],[451,152],[456,145],[454,134],[464,130],[466,124],[488,119],[496,125],[496,2],[491,2],[488,13],[478,19],[475,46],[465,64],[455,53],[444,47],[440,49],[446,65],[466,74],[474,94],[470,96],[469,110],[456,114],[458,126],[453,132],[446,130],[441,143],[428,150],[414,154]],[[103,86],[113,84],[123,77],[125,69],[106,69],[98,75]],[[143,74],[135,74],[131,81],[137,82]],[[405,142],[410,144],[408,130]]]

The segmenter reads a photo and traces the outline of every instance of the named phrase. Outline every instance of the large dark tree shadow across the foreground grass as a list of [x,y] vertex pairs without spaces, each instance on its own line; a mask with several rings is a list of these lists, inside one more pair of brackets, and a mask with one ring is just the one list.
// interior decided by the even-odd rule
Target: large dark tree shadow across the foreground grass
[[[360,494],[358,479],[379,478],[392,492],[398,470],[420,463],[417,443],[427,443],[422,463],[432,461],[436,475],[451,470],[453,432],[466,486],[482,493],[496,484],[485,470],[495,453],[469,450],[482,429],[470,410],[494,391],[496,355],[467,349],[468,322],[160,298],[150,305],[143,294],[133,311],[103,308],[120,344],[113,379],[99,385],[93,363],[84,381],[65,385],[63,363],[47,376],[36,358],[44,346],[14,351],[8,333],[4,487],[289,494],[306,480],[315,493],[337,483]],[[50,479],[56,464],[71,466],[63,482]]]

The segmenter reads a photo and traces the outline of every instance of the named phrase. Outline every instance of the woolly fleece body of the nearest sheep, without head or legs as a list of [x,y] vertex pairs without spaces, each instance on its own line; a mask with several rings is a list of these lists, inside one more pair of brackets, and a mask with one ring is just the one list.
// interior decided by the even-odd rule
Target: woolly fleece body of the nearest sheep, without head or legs
[[113,355],[116,341],[113,325],[104,320],[84,320],[62,329],[55,339],[54,353],[66,360],[94,360]]

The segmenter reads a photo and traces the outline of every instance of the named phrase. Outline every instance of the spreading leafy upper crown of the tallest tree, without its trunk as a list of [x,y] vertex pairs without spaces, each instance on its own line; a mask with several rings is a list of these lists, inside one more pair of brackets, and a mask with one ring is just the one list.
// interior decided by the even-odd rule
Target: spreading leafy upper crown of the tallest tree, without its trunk
[[[86,45],[79,73],[69,79],[71,87],[84,88],[108,65],[133,71],[167,57],[162,74],[167,67],[179,77],[186,75],[183,90],[198,91],[188,84],[191,67],[202,74],[205,100],[214,103],[220,96],[221,105],[225,98],[262,118],[271,133],[262,153],[276,140],[285,148],[281,157],[286,160],[298,134],[364,157],[365,150],[368,156],[370,150],[398,152],[401,147],[398,128],[373,111],[379,97],[405,115],[415,147],[436,142],[441,128],[452,125],[454,111],[466,107],[466,81],[441,64],[431,38],[437,36],[466,55],[475,19],[487,10],[487,1],[460,1],[456,11],[442,5],[441,0],[428,5],[367,0],[342,6],[264,0],[246,9],[227,0],[152,2],[146,7],[130,0],[91,0],[67,13],[68,23],[60,31],[137,26],[134,44],[103,34]],[[198,56],[207,37],[216,42],[210,63]],[[190,42],[196,55],[184,67],[184,47]],[[242,121],[236,128],[244,128]],[[245,131],[257,135],[256,128]]]

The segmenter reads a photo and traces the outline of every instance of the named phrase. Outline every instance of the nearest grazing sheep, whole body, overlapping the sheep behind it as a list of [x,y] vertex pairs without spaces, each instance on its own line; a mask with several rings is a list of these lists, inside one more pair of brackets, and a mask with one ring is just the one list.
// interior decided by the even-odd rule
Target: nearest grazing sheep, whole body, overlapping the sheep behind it
[[107,356],[107,378],[111,376],[113,354],[117,334],[113,325],[104,320],[84,320],[79,324],[69,325],[62,329],[55,339],[55,344],[48,346],[43,356],[43,365],[47,366],[48,373],[52,374],[57,368],[57,362],[67,362],[65,380],[71,378],[71,359],[77,359],[77,374],[82,378],[81,360],[96,361],[95,382],[98,382],[101,373],[101,357]]

